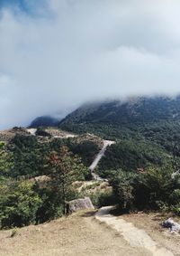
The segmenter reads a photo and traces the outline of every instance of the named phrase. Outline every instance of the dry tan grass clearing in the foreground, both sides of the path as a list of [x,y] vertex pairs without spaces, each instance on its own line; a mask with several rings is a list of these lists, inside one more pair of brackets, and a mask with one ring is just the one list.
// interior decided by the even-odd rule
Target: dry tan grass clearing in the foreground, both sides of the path
[[[143,232],[148,242],[156,243],[157,248],[164,248],[169,255],[179,256],[179,237],[162,230],[157,220],[148,214],[122,215],[123,227],[127,228],[137,223],[130,237]],[[139,218],[139,221],[137,221]],[[128,222],[128,223],[126,223]],[[140,225],[140,226],[139,226]],[[133,225],[132,225],[133,226]],[[156,228],[155,228],[156,226]],[[114,230],[107,223],[101,223],[94,218],[94,212],[74,213],[56,221],[28,226],[18,229],[14,237],[12,230],[0,232],[0,254],[2,256],[150,256],[152,254],[142,244],[139,247],[130,245],[121,232]],[[137,240],[137,239],[136,239]],[[172,253],[172,254],[171,254]],[[166,253],[164,255],[167,255]]]

